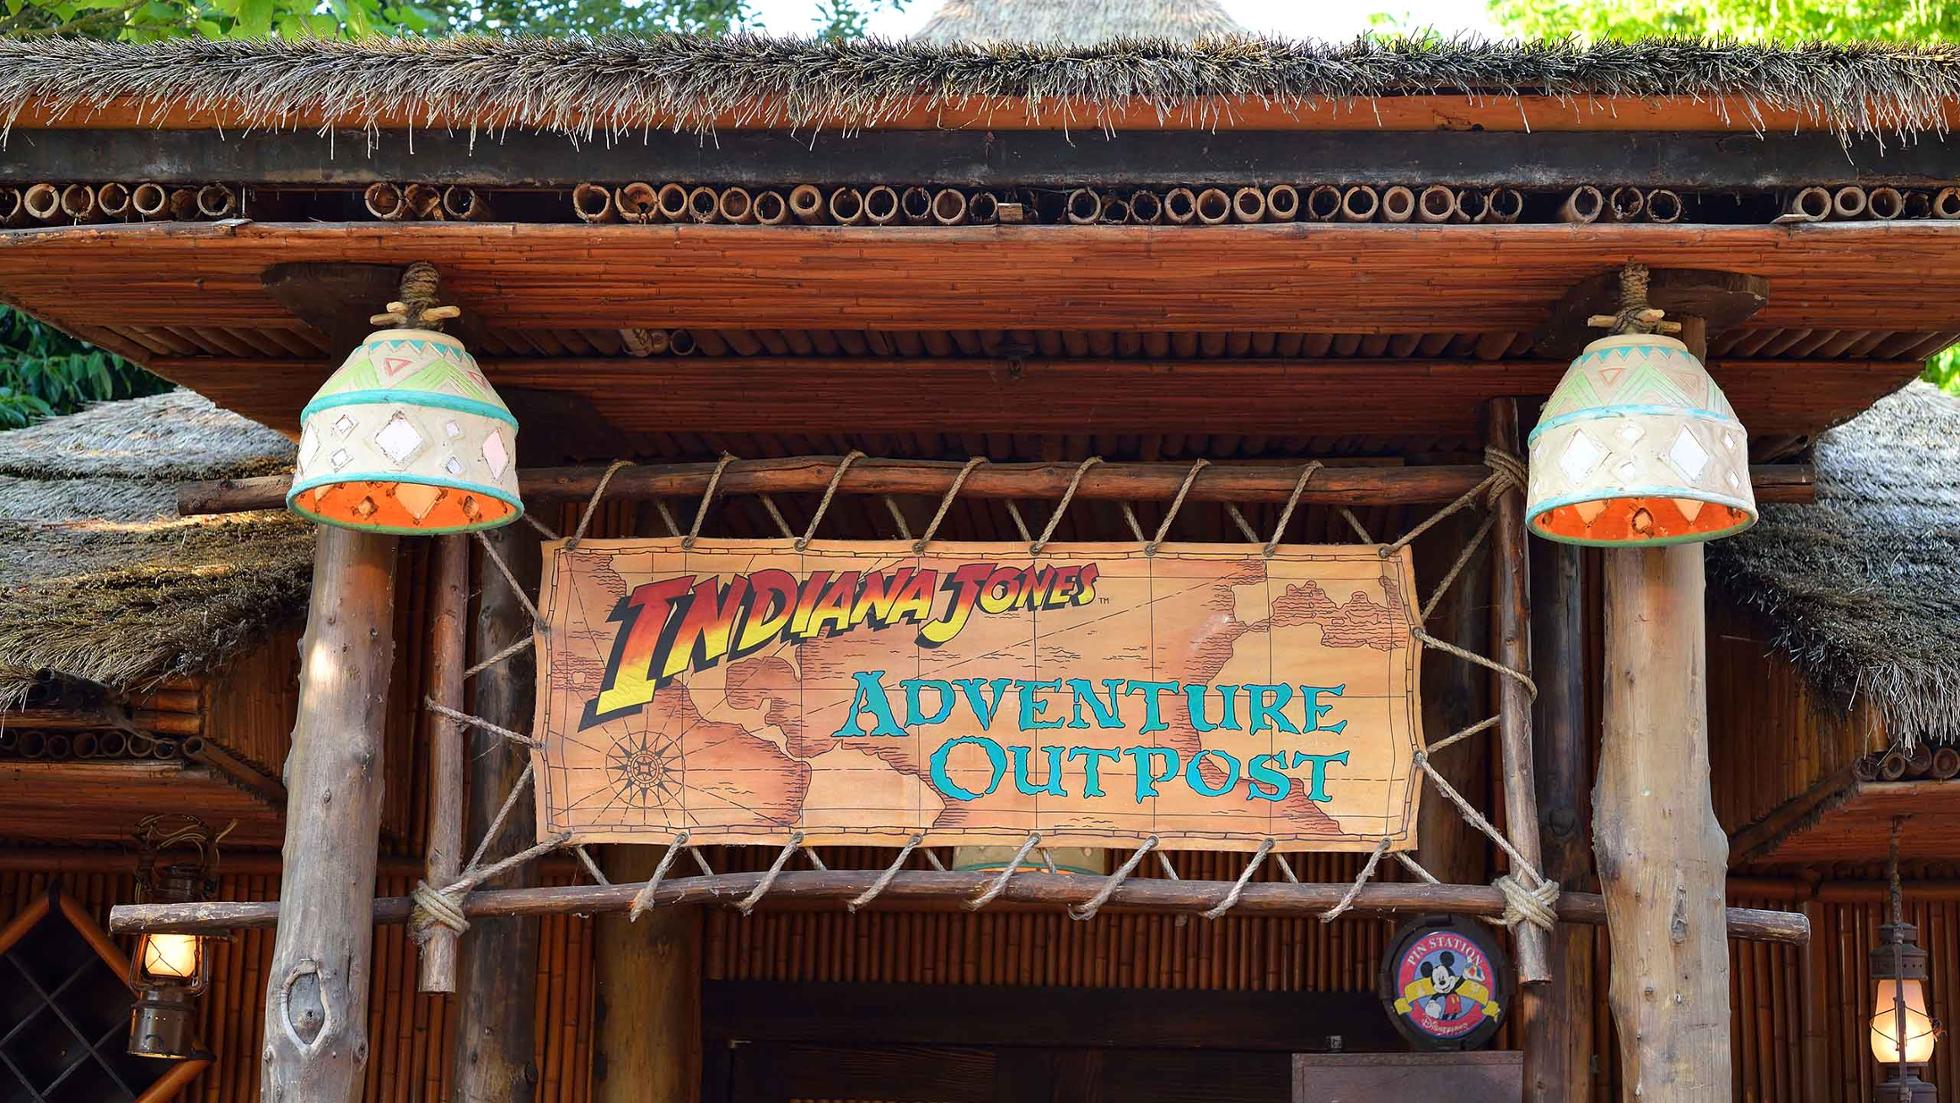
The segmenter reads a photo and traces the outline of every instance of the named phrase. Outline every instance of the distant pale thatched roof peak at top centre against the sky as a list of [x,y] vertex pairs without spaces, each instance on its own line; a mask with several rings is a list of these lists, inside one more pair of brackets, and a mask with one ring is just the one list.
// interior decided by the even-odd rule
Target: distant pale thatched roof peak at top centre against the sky
[[925,43],[1198,41],[1243,35],[1217,0],[945,0],[913,35]]

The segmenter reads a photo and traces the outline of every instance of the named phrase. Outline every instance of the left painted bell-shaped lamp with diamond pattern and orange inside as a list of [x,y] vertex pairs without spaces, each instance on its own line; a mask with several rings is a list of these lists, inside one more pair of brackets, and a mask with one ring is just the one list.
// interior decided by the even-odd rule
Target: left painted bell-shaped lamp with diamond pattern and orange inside
[[286,505],[370,533],[508,525],[517,419],[461,341],[433,329],[370,333],[300,413]]

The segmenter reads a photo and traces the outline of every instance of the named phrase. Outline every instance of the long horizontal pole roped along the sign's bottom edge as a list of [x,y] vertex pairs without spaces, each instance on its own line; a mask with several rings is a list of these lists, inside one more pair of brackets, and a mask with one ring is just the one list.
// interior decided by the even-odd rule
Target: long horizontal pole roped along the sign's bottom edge
[[[653,893],[655,907],[670,905],[731,905],[749,895],[764,874],[717,874],[674,878]],[[796,907],[847,901],[876,882],[880,870],[784,872],[768,889],[766,905]],[[884,905],[943,903],[960,907],[994,882],[994,874],[939,874],[906,870],[878,895]],[[1060,907],[1088,903],[1102,887],[1098,878],[1070,874],[1015,874],[1002,889],[1005,905]],[[1321,915],[1341,901],[1352,886],[1252,882],[1245,886],[1235,915]],[[531,889],[476,891],[463,901],[468,917],[512,915],[602,915],[625,911],[641,886],[555,886]],[[1139,911],[1207,911],[1231,891],[1229,882],[1129,880],[1109,897],[1113,909]],[[374,901],[374,923],[404,923],[414,907],[410,897]],[[218,933],[251,927],[270,927],[278,921],[278,901],[214,901],[214,903],[129,903],[110,909],[110,931],[190,931]],[[1429,886],[1403,882],[1374,882],[1354,897],[1354,911],[1392,915],[1405,911],[1448,911],[1456,915],[1503,915],[1503,893],[1490,886]],[[1605,903],[1592,893],[1560,893],[1558,917],[1570,923],[1605,923]],[[1731,907],[1729,935],[1764,942],[1803,942],[1809,925],[1788,911],[1756,911]],[[474,923],[470,925],[474,931]],[[465,987],[465,991],[468,991]]]

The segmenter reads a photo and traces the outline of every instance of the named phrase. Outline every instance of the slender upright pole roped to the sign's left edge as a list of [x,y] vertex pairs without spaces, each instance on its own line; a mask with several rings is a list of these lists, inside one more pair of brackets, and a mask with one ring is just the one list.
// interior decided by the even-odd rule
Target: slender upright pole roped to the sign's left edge
[[[429,695],[463,711],[468,666],[470,539],[435,543],[435,625],[429,631]],[[427,882],[443,887],[463,872],[463,725],[429,717]],[[421,991],[457,989],[457,933],[435,925],[421,942]]]

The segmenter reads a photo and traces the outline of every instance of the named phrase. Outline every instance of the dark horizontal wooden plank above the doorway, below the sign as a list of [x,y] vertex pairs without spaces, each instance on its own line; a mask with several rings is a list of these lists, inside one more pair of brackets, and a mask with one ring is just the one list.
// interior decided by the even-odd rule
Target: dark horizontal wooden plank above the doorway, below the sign
[[1166,1050],[1386,1048],[1372,991],[710,982],[710,1038]]

